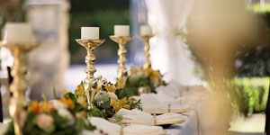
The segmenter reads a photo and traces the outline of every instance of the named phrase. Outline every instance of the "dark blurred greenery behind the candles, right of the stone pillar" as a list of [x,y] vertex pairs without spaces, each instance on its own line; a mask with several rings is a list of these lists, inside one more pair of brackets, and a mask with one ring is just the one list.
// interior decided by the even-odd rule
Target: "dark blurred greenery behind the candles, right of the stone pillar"
[[[85,49],[75,39],[80,38],[82,26],[100,27],[100,39],[106,41],[95,49],[97,63],[116,63],[118,45],[110,40],[113,25],[130,25],[129,0],[71,0],[69,50],[71,64],[83,64]],[[98,53],[96,53],[98,52]]]

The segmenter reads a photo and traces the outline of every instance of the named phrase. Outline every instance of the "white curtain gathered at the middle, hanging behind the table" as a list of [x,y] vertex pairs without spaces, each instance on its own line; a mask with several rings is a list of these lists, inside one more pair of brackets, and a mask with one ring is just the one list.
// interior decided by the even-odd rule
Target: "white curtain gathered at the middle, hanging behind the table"
[[198,80],[183,37],[176,35],[184,29],[193,3],[194,0],[146,0],[148,23],[157,33],[150,40],[152,67],[160,69],[167,81],[180,85],[195,85]]

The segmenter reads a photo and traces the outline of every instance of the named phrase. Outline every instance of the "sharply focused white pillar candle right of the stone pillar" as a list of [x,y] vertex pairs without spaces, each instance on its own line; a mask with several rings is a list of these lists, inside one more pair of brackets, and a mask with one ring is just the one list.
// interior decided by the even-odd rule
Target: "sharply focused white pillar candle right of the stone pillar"
[[82,27],[82,40],[99,40],[99,27]]

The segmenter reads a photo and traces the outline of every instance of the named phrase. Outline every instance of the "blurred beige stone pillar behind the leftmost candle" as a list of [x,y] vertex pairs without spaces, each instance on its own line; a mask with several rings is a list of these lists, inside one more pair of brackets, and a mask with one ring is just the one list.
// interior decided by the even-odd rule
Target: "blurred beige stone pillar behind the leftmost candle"
[[30,0],[27,4],[27,21],[40,47],[28,58],[30,97],[41,100],[41,94],[53,98],[64,90],[65,71],[69,64],[68,10],[66,0]]

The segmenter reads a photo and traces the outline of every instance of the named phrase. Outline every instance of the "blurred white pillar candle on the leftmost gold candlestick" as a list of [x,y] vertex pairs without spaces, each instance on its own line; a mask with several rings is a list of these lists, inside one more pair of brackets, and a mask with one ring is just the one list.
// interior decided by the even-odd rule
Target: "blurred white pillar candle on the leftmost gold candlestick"
[[33,41],[31,25],[29,23],[6,23],[3,41],[14,44],[31,43]]

